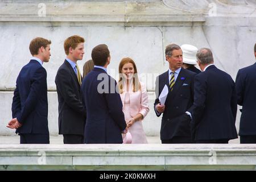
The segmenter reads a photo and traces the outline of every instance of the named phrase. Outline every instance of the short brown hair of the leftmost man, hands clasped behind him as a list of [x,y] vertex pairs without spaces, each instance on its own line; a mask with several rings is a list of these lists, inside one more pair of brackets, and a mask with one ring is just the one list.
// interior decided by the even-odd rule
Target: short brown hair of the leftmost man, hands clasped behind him
[[39,48],[46,48],[49,44],[51,44],[51,40],[47,40],[44,38],[35,38],[30,42],[30,53],[32,56],[38,55]]

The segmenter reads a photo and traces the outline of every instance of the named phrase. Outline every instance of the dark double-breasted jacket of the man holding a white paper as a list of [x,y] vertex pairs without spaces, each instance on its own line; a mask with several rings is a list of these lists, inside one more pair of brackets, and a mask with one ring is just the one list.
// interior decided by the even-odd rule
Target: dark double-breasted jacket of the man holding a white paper
[[[174,84],[174,89],[170,90],[168,71],[156,78],[156,100],[155,106],[159,103],[158,96],[162,92],[164,85],[168,86],[169,92],[166,99],[166,109],[160,130],[160,139],[168,140],[173,137],[191,137],[191,118],[185,113],[192,114],[193,105],[193,78],[196,74],[181,68]],[[155,110],[156,116],[160,116]]]

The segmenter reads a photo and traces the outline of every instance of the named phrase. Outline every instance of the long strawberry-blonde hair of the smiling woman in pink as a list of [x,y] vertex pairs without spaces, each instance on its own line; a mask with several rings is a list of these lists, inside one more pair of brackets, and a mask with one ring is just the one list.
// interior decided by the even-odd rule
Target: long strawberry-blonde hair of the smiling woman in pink
[[133,68],[134,68],[134,75],[133,75],[133,92],[137,92],[138,90],[141,90],[141,84],[139,83],[139,77],[138,77],[138,72],[137,72],[137,67],[136,64],[134,63],[134,61],[132,59],[130,59],[130,57],[124,57],[120,63],[119,63],[119,80],[118,80],[118,89],[119,89],[119,93],[122,94],[123,93],[123,84],[125,83],[125,77],[123,77],[122,74],[122,68],[123,65],[127,64],[127,63],[131,63],[133,64]]

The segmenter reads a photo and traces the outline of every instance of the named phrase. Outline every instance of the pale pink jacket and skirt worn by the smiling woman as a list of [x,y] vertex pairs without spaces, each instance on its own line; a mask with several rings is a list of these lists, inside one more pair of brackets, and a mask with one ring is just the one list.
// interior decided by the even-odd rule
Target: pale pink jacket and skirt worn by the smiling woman
[[[144,87],[144,85],[142,87],[142,90],[138,90],[135,93],[131,91],[129,93],[123,92],[121,94],[123,113],[125,114],[126,122],[129,121],[130,118],[135,117],[135,115],[138,113],[141,113],[143,117],[145,117],[149,111],[146,87]],[[132,137],[131,143],[148,143],[146,134],[143,130],[142,121],[134,122],[134,124],[131,125],[128,130],[130,131]]]

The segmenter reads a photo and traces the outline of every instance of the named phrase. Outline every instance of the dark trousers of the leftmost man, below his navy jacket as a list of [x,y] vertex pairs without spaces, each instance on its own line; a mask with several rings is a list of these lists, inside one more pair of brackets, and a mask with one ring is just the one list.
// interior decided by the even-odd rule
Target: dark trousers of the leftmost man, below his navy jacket
[[49,134],[19,134],[20,144],[49,144]]

